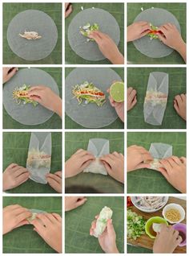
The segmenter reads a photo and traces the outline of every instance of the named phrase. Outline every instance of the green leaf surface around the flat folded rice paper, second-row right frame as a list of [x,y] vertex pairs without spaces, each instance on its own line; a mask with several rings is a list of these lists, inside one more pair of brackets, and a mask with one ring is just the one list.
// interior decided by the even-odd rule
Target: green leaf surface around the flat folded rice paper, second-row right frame
[[[152,126],[144,122],[143,118],[143,102],[151,72],[167,72],[169,75],[167,107],[161,126]],[[175,96],[187,91],[186,68],[127,68],[127,87],[137,91],[137,104],[127,112],[128,129],[186,129],[186,122],[173,106]]]

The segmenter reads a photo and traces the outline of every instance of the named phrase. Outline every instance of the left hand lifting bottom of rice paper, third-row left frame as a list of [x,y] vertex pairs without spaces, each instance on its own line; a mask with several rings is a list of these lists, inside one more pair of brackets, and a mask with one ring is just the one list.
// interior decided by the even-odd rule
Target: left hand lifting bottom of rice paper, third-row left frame
[[16,188],[29,179],[30,172],[16,163],[11,163],[2,174],[3,191]]

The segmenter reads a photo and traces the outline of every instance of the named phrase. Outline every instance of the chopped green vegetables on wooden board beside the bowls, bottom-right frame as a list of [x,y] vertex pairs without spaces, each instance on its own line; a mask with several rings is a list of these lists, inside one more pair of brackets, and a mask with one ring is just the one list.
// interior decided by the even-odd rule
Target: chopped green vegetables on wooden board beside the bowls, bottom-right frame
[[146,221],[142,216],[127,209],[127,237],[136,240],[145,233]]

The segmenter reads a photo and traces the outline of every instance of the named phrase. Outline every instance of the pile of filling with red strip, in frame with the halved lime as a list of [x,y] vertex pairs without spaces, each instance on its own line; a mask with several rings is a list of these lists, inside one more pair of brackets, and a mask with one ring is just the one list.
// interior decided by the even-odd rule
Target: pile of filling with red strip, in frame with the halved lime
[[82,103],[82,100],[85,100],[85,104],[95,103],[96,105],[102,106],[106,101],[106,95],[93,83],[89,83],[88,81],[85,81],[82,85],[74,85],[72,93],[77,98],[79,104]]

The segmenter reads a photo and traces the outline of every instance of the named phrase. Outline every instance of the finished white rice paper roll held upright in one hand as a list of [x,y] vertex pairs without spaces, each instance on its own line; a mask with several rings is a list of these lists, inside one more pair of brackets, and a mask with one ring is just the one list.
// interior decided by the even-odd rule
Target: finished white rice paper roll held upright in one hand
[[102,233],[107,227],[107,221],[111,219],[112,214],[113,214],[113,211],[109,207],[104,206],[104,208],[101,210],[99,217],[96,221],[96,226],[93,234],[94,237],[99,237],[100,235],[102,235]]

